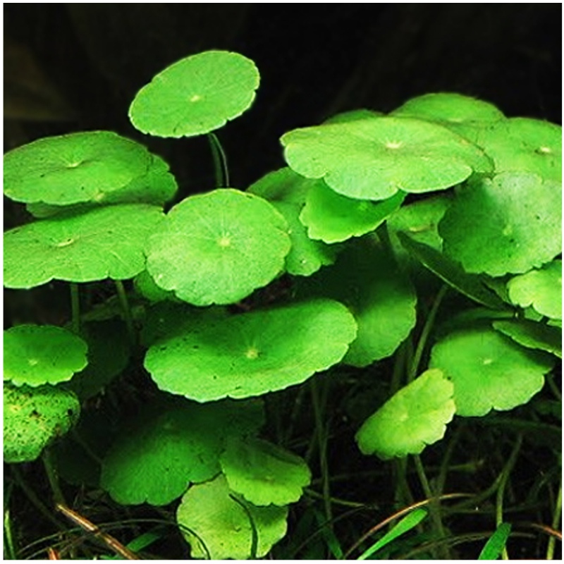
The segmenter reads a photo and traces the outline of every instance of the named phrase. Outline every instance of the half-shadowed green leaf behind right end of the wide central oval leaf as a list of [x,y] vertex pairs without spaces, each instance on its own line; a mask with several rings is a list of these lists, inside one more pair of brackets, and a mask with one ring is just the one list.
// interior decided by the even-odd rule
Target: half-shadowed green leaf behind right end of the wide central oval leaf
[[390,356],[415,326],[415,290],[369,236],[349,245],[334,266],[307,278],[302,292],[333,298],[353,312],[358,334],[343,359],[353,366]]

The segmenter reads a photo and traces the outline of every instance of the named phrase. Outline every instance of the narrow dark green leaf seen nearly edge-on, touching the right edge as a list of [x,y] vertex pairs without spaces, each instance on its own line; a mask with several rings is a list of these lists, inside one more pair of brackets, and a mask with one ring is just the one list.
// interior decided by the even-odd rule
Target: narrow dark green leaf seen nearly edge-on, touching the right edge
[[502,319],[492,323],[494,329],[527,348],[546,350],[562,358],[562,329],[530,319]]

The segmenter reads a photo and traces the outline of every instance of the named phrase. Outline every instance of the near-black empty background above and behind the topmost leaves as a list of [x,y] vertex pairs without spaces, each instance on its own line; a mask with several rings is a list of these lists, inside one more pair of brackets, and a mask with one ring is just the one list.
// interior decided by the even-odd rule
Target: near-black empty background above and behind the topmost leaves
[[219,131],[234,188],[283,166],[278,137],[339,111],[455,91],[561,121],[561,4],[4,4],[4,144],[109,129],[167,159],[183,193],[213,188],[204,138],[144,137],[128,106],[168,64],[250,57],[255,105]]

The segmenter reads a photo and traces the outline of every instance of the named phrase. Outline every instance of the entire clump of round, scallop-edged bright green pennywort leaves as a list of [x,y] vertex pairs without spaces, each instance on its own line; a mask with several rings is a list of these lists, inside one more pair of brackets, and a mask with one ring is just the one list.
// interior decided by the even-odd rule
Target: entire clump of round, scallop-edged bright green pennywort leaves
[[[216,188],[181,200],[166,162],[113,132],[5,158],[4,193],[35,219],[4,235],[4,285],[66,281],[72,315],[6,331],[4,459],[49,449],[64,477],[64,453],[91,455],[84,482],[116,503],[175,503],[194,558],[266,556],[311,481],[262,434],[272,392],[396,355],[355,436],[405,458],[454,417],[529,402],[561,357],[558,126],[428,94],[285,133],[287,166],[245,190],[214,131],[258,85],[252,61],[207,51],[137,93],[140,132],[209,139]],[[102,281],[115,295],[82,310]],[[98,441],[81,404],[132,374],[137,414]]]

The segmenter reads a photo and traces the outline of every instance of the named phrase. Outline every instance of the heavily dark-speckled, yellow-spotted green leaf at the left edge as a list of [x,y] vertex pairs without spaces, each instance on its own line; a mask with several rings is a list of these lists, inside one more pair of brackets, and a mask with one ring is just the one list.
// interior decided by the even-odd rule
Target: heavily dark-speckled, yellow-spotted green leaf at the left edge
[[4,384],[4,462],[31,462],[78,421],[80,403],[54,386]]

